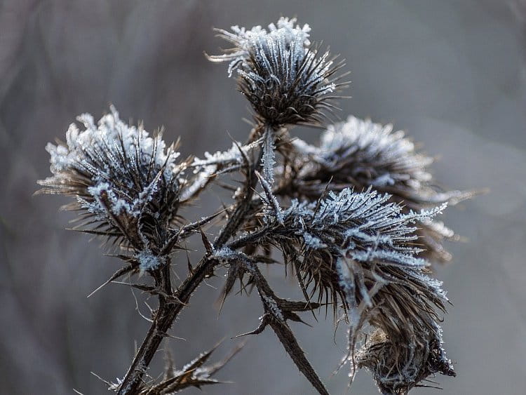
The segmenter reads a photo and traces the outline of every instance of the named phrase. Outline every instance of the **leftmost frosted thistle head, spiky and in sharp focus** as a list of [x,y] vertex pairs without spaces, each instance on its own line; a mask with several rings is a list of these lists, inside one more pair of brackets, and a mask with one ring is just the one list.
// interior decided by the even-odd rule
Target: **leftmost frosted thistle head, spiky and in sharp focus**
[[84,130],[69,126],[66,143],[46,149],[53,176],[39,181],[41,193],[73,196],[65,206],[79,210],[79,229],[111,238],[135,250],[141,269],[159,263],[159,253],[180,206],[186,164],[175,146],[142,126],[128,126],[112,113],[95,125],[90,114],[79,116]]

